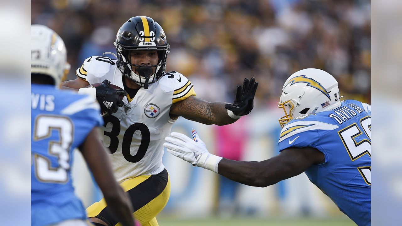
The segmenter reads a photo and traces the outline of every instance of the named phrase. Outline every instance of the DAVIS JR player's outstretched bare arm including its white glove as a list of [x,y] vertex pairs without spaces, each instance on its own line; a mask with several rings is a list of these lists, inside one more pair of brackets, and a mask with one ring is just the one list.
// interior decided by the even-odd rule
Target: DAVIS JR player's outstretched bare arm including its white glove
[[312,164],[319,164],[324,154],[315,148],[287,148],[277,156],[261,162],[235,161],[210,154],[197,132],[194,140],[173,132],[163,144],[169,153],[182,158],[193,166],[219,173],[245,185],[267,187],[306,171]]

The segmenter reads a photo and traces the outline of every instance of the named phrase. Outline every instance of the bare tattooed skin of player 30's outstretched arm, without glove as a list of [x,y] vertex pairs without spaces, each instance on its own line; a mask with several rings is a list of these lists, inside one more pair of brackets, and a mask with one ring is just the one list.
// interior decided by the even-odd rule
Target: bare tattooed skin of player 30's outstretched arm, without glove
[[186,119],[203,124],[226,125],[236,121],[228,116],[225,102],[207,102],[191,96],[183,101],[174,103],[170,114],[183,116]]

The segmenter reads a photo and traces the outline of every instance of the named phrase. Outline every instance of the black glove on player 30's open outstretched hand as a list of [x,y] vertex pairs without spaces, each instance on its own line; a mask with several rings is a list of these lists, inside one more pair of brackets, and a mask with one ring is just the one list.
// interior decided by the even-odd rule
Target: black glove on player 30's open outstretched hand
[[235,115],[247,115],[254,107],[254,95],[257,90],[258,82],[255,78],[244,79],[243,86],[237,86],[236,98],[233,104],[226,104],[225,108],[232,111]]

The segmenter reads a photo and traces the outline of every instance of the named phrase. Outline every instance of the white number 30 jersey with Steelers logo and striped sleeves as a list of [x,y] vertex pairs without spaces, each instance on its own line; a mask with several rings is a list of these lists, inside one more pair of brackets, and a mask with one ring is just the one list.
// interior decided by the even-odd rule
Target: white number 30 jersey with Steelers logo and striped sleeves
[[[89,84],[107,79],[123,88],[123,74],[116,60],[92,56],[76,70]],[[164,138],[169,136],[175,120],[170,119],[172,103],[196,95],[193,84],[178,72],[165,73],[160,80],[140,88],[132,99],[124,97],[124,106],[104,117],[103,142],[109,147],[113,171],[118,181],[139,175],[154,175],[162,164]]]

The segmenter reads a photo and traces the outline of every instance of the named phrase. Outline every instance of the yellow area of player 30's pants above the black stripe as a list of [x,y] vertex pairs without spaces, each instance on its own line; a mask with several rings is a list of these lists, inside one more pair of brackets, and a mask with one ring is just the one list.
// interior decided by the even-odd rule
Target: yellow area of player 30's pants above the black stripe
[[[133,187],[136,187],[140,183],[144,182],[146,179],[150,178],[152,175],[141,175],[138,177],[134,177],[132,179],[128,179],[124,181],[123,183],[120,184],[120,186],[123,188],[124,192],[132,189]],[[101,199],[100,201],[92,204],[90,207],[86,208],[86,216],[88,218],[93,218],[95,216],[98,216],[100,212],[105,209],[107,206],[105,198]]]

